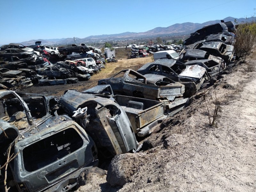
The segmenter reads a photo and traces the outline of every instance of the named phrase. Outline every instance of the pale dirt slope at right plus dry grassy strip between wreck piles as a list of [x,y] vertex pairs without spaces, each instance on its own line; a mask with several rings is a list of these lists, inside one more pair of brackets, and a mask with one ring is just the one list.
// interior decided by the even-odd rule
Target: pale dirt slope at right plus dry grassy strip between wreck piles
[[[255,67],[253,54],[247,64]],[[108,75],[122,68],[137,69],[151,61],[146,59],[110,64],[116,67]],[[187,108],[164,120],[140,142],[148,140],[152,148],[117,156],[128,180],[124,186],[112,187],[106,174],[92,173],[77,191],[256,191],[256,72],[246,69],[246,64],[236,65],[232,73],[193,96]],[[66,89],[83,90],[95,86],[100,76],[80,84],[33,87],[28,92],[60,95]],[[219,121],[209,126],[206,105],[212,115],[216,99],[221,107]]]

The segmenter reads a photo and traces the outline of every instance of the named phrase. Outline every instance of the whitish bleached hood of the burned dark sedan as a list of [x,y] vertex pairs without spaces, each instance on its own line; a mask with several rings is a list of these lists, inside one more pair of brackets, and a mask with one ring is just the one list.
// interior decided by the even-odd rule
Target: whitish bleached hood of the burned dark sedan
[[180,76],[201,79],[204,76],[205,71],[206,69],[199,65],[191,65],[188,66],[184,71],[182,71],[182,73],[180,73]]

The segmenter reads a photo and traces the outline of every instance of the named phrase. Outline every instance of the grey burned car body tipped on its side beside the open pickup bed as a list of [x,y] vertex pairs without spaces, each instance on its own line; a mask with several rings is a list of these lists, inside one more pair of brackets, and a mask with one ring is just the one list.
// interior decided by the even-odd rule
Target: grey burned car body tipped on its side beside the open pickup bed
[[[124,110],[114,101],[114,99],[99,97],[97,96],[97,94],[88,94],[68,90],[60,98],[60,103],[62,108],[70,115],[72,115],[73,111],[77,110],[79,107],[86,107],[89,105],[92,106],[91,104],[95,103],[94,106],[96,107],[94,108],[94,110],[87,110],[87,115],[90,115],[92,117],[97,116],[97,118],[91,119],[91,117],[89,117],[92,123],[88,124],[89,127],[87,128],[94,130],[94,133],[98,134],[98,131],[106,133],[106,130],[109,130],[110,126],[113,132],[116,132],[116,134],[120,134],[121,136],[121,138],[119,138],[119,145],[124,145],[124,147],[120,146],[122,148],[122,153],[137,149],[137,140],[135,138],[134,132],[132,132],[132,125],[130,124],[130,121]],[[115,108],[115,114],[110,114],[109,108]],[[107,120],[108,123],[103,124],[104,120],[101,121],[102,118],[105,121]],[[96,125],[98,131],[96,131],[96,127],[94,127]],[[104,136],[106,136],[106,134],[104,134]],[[98,140],[101,140],[100,137],[102,137],[103,135],[102,133],[99,133],[96,136]],[[112,134],[108,135],[108,137],[112,137]],[[111,141],[114,141],[114,139],[109,138],[108,141],[109,143],[112,143]],[[115,149],[115,154],[117,154],[119,150],[118,147],[115,147],[113,144],[112,146]]]

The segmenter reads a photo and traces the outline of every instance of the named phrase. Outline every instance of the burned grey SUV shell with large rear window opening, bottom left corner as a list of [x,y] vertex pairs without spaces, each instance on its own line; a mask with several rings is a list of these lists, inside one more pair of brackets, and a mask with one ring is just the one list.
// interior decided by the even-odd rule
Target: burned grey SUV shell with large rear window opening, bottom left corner
[[68,191],[84,169],[98,165],[96,146],[84,129],[68,116],[50,114],[53,97],[2,91],[0,100],[1,165],[9,149],[16,154],[8,171],[13,189]]

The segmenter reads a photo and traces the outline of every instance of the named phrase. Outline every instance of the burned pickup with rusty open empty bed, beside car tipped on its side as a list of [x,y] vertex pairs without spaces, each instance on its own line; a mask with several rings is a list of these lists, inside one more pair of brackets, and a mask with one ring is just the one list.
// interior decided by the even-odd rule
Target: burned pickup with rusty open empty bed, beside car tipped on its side
[[[102,94],[112,97],[128,116],[133,132],[139,137],[151,133],[151,130],[166,117],[172,116],[182,110],[188,98],[177,98],[174,101],[161,99],[149,100],[124,95],[114,95],[111,86],[97,85],[83,91],[90,94]],[[111,99],[111,98],[110,98]]]

